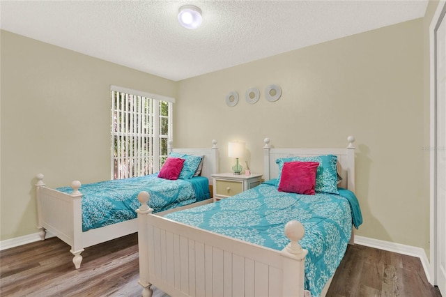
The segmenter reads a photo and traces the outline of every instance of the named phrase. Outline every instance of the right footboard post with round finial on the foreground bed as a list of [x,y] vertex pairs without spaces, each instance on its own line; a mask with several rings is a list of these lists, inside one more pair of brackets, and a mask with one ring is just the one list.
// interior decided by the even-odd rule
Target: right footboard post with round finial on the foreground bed
[[280,252],[284,264],[283,296],[304,296],[305,257],[308,251],[302,249],[299,244],[304,234],[305,230],[300,222],[291,220],[286,223],[285,235],[291,242]]

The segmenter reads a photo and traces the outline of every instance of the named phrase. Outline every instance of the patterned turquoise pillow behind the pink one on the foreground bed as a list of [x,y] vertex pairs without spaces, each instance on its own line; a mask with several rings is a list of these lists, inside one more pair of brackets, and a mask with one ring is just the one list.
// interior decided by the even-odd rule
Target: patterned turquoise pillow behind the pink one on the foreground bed
[[337,156],[336,155],[314,155],[310,157],[289,157],[276,160],[279,165],[279,176],[277,176],[276,188],[279,187],[282,168],[285,162],[319,162],[316,171],[316,192],[339,194],[337,190]]

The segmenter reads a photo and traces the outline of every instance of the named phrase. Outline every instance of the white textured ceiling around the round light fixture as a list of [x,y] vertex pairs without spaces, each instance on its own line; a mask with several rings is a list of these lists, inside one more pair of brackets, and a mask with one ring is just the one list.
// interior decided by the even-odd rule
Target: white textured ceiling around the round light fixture
[[[0,1],[1,29],[178,81],[423,17],[427,1]],[[178,8],[203,11],[199,29]]]

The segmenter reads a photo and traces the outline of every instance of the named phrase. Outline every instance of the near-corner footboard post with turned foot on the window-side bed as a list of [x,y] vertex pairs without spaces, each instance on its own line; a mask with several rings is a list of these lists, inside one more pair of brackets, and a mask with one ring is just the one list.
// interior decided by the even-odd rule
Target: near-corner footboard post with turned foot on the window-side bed
[[79,269],[81,266],[81,253],[84,252],[84,248],[82,248],[82,194],[79,192],[80,187],[80,181],[73,181],[71,183],[73,234],[70,252],[75,256],[72,258],[72,263],[75,264],[76,269]]

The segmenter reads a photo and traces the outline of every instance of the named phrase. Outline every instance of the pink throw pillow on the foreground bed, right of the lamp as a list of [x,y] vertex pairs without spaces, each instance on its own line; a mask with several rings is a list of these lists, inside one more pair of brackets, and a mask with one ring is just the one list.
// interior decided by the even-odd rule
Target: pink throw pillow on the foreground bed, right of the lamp
[[318,162],[285,162],[280,177],[279,192],[314,195]]

